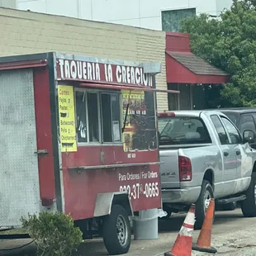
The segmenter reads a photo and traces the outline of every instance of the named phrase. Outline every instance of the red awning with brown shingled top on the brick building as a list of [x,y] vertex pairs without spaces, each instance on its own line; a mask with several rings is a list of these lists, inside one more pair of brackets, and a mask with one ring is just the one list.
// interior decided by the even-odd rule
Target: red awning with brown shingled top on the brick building
[[168,83],[227,83],[229,74],[191,52],[166,51]]

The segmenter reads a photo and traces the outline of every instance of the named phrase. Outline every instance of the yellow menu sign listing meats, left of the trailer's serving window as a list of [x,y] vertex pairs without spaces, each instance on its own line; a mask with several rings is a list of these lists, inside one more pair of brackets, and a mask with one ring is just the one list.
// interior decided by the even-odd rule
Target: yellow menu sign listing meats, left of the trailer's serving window
[[78,151],[73,86],[59,85],[58,100],[61,152]]

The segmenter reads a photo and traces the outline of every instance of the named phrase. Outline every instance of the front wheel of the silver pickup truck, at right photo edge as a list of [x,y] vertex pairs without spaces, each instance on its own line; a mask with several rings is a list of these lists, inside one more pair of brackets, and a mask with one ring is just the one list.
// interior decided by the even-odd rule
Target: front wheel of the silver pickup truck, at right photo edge
[[241,201],[244,217],[256,216],[256,173],[252,173],[251,183],[245,192],[246,199]]

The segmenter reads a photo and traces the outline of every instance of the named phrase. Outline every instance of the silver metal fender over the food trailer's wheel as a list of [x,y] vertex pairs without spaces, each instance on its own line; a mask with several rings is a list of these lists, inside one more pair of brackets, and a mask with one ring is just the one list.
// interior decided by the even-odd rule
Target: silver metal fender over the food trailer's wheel
[[133,216],[133,210],[127,192],[98,193],[93,216],[99,217],[110,215],[111,206],[113,204],[123,206],[126,209],[128,216]]

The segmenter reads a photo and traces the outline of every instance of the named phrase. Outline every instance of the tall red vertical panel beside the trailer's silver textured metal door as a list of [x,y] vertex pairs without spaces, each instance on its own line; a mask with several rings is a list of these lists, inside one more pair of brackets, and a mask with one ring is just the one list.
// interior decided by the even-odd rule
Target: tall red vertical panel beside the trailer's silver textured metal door
[[50,118],[51,109],[48,69],[34,69],[34,95],[37,149],[46,150],[48,152],[48,154],[39,155],[38,157],[40,198],[41,200],[52,201],[56,198],[56,178]]

